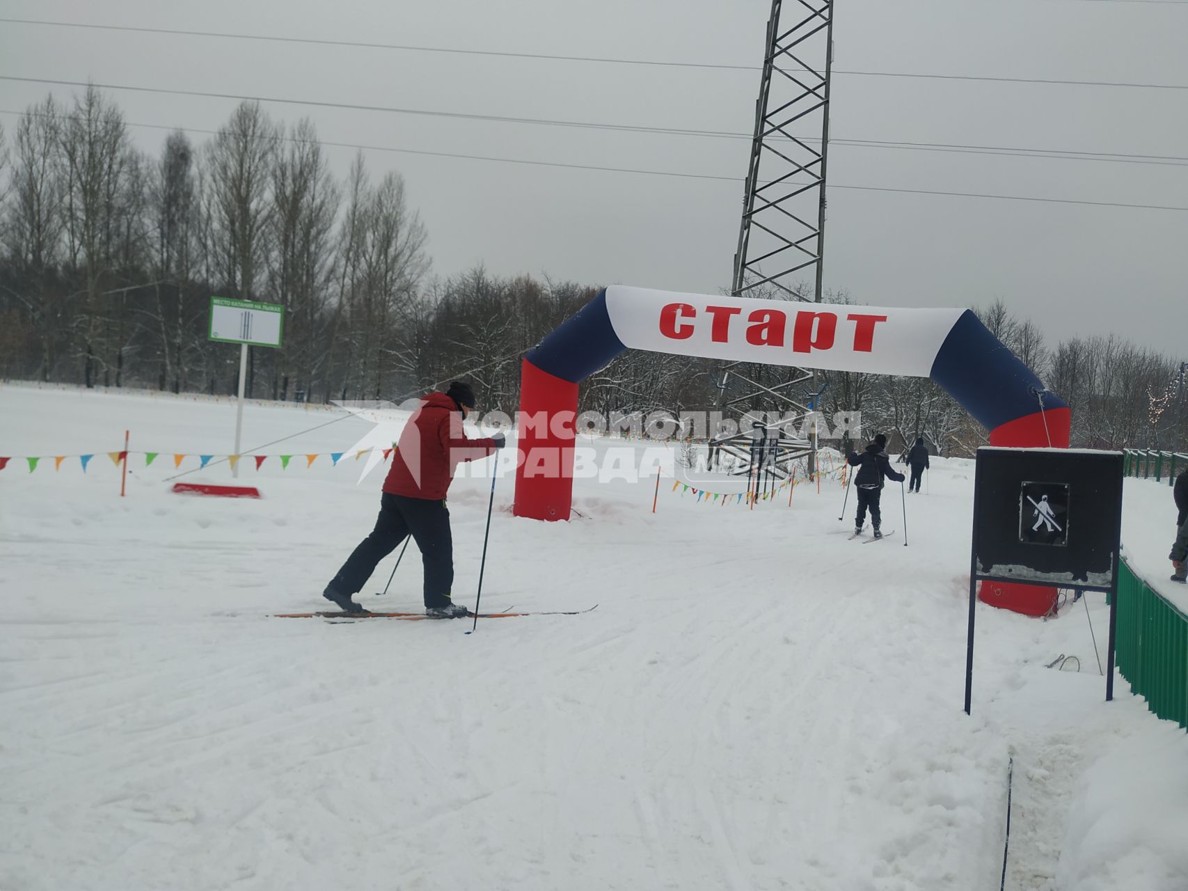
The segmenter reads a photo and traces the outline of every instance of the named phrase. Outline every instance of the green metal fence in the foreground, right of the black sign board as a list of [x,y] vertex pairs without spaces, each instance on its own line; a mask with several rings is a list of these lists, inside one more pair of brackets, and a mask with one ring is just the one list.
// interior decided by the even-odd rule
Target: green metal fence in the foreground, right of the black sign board
[[1118,670],[1146,707],[1188,728],[1188,615],[1121,563]]

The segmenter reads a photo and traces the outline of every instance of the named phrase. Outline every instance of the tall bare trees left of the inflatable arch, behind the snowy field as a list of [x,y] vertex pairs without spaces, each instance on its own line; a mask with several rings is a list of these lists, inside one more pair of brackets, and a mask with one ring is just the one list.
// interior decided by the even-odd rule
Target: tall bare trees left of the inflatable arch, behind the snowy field
[[279,349],[251,350],[259,398],[392,398],[474,371],[488,405],[518,358],[590,289],[430,279],[428,233],[399,173],[359,154],[345,181],[309,120],[245,102],[195,144],[137,148],[95,88],[52,94],[0,131],[0,377],[234,392],[239,350],[208,341],[211,296],[285,308]]

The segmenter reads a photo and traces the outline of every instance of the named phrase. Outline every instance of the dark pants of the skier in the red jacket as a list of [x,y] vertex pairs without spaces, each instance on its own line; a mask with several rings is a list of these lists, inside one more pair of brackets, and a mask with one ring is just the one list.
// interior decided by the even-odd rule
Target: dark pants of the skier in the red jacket
[[330,587],[343,594],[361,590],[379,562],[411,533],[425,565],[425,606],[448,606],[454,586],[454,539],[446,501],[385,492],[379,504],[375,529],[347,557]]

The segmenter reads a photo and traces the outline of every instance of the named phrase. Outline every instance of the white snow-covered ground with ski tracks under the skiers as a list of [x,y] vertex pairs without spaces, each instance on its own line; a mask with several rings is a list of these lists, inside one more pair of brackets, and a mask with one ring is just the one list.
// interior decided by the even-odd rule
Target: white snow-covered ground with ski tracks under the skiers
[[[662,482],[653,514],[653,480],[579,480],[582,517],[543,524],[504,476],[484,607],[598,609],[270,618],[326,606],[378,510],[383,468],[305,467],[369,429],[339,417],[249,405],[245,453],[297,457],[241,468],[261,500],[195,499],[171,455],[229,451],[232,403],[0,386],[0,455],[48,456],[0,472],[0,889],[991,891],[1010,757],[1007,889],[1188,887],[1188,734],[1121,678],[1102,701],[1101,595],[979,606],[963,714],[972,462],[934,461],[909,546],[893,488],[864,545],[836,482],[753,511]],[[162,454],[121,499],[126,428]],[[472,606],[489,485],[450,492]],[[1152,580],[1173,522],[1127,481]],[[412,557],[359,599],[419,608]]]

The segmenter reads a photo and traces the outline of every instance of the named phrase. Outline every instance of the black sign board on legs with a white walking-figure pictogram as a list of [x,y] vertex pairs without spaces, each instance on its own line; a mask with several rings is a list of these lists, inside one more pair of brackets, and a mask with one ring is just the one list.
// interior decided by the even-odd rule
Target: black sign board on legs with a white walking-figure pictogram
[[1112,594],[1106,700],[1113,699],[1121,480],[1120,451],[978,449],[969,560],[967,713],[979,581]]

